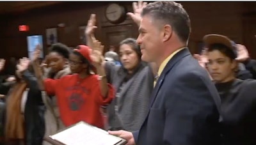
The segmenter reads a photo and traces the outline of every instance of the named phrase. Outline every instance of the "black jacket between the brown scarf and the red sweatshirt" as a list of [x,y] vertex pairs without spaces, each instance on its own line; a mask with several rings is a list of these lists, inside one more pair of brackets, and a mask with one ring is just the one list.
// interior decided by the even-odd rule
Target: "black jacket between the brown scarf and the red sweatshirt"
[[26,144],[42,144],[45,133],[42,93],[38,87],[36,77],[28,70],[23,73],[23,78],[28,83],[28,98],[25,105]]

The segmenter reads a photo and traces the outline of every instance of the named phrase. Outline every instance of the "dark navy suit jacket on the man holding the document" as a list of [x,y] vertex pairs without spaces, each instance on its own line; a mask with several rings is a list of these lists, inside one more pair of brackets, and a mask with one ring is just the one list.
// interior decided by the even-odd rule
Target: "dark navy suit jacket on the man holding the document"
[[207,72],[183,49],[168,62],[152,93],[137,145],[220,144],[220,96]]

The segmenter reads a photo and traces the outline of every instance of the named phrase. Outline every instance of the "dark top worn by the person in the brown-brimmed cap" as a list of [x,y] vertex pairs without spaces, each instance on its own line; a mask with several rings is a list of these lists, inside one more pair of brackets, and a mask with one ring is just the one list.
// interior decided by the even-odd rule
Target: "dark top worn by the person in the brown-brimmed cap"
[[216,83],[221,98],[223,145],[256,144],[256,80]]

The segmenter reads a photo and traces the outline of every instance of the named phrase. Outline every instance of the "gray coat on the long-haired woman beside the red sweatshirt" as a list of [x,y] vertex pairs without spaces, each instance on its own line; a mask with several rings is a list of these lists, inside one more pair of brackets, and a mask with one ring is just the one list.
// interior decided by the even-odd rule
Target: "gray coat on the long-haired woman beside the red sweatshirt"
[[[122,66],[106,63],[106,73],[109,83],[113,84],[116,97],[108,106],[109,130],[140,129],[147,116],[148,104],[153,89],[154,75],[152,69],[145,63],[125,83],[122,83],[127,72]],[[120,91],[118,91],[118,89]]]

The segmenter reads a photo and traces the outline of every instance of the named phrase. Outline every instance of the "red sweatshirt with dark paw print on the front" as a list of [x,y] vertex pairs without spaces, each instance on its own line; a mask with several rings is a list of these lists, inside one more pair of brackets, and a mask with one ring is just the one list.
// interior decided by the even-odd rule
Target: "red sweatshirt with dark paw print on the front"
[[79,79],[78,75],[66,75],[61,79],[45,79],[45,91],[57,97],[60,117],[65,126],[85,121],[104,128],[100,105],[107,105],[114,96],[113,87],[108,84],[108,96],[102,98],[98,75]]

